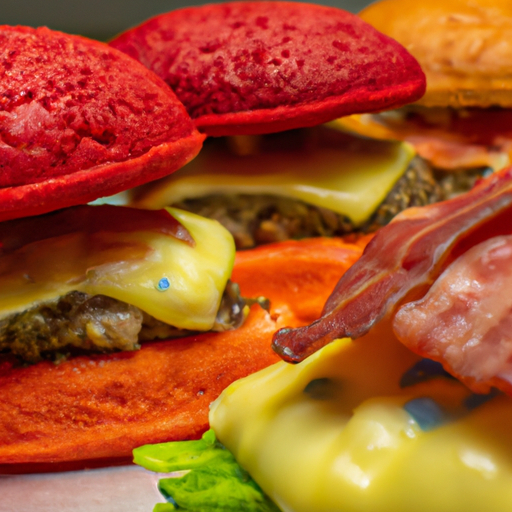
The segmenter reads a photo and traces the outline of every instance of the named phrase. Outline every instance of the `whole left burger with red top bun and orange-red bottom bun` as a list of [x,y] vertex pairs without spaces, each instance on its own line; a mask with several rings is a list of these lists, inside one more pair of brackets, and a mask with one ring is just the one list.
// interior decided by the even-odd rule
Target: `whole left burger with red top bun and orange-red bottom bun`
[[0,54],[0,463],[34,471],[196,435],[230,367],[273,360],[258,344],[274,323],[260,315],[236,349],[224,339],[228,363],[217,357],[204,389],[185,386],[186,343],[134,350],[241,323],[232,237],[186,212],[81,203],[173,172],[204,135],[163,81],[105,44],[4,26]]

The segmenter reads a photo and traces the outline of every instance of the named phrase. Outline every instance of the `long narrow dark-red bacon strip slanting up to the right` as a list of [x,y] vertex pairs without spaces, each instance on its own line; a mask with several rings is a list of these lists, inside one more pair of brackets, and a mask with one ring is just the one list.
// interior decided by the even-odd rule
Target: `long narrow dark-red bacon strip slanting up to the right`
[[405,299],[421,296],[450,260],[478,241],[512,232],[511,209],[512,168],[507,168],[465,195],[405,210],[377,232],[340,279],[322,317],[306,327],[279,330],[274,350],[299,362],[336,338],[366,334]]

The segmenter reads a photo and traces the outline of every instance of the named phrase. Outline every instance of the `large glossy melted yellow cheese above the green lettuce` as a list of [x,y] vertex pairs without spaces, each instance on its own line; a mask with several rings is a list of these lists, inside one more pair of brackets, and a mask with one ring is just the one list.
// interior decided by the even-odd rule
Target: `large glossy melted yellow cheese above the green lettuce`
[[[337,341],[235,382],[210,424],[284,512],[509,511],[511,399],[471,408],[446,377],[400,387],[417,361],[391,335]],[[441,415],[429,429],[406,410],[422,401]]]

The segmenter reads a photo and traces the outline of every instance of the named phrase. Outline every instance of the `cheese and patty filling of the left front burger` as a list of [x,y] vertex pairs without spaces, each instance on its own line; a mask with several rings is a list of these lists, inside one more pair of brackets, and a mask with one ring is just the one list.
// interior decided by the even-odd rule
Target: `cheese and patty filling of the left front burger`
[[[4,228],[1,351],[35,362],[75,349],[134,350],[141,341],[222,331],[243,321],[244,301],[228,281],[233,241],[222,226],[174,209],[169,217],[187,234],[171,235],[162,228],[162,212],[149,212],[143,226],[147,212],[121,210],[122,231],[112,231],[119,209],[111,206]],[[68,229],[68,216],[80,222]],[[48,221],[60,227],[39,239]]]

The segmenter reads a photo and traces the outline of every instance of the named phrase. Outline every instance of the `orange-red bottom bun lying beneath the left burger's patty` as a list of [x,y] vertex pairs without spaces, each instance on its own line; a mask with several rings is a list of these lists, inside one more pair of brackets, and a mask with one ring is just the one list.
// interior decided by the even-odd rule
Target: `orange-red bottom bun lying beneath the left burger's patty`
[[233,279],[242,294],[266,296],[271,308],[253,306],[237,330],[58,365],[0,363],[0,471],[128,461],[136,446],[200,437],[210,402],[234,380],[276,362],[272,333],[317,317],[361,252],[362,244],[315,239],[238,254]]

